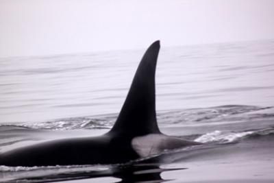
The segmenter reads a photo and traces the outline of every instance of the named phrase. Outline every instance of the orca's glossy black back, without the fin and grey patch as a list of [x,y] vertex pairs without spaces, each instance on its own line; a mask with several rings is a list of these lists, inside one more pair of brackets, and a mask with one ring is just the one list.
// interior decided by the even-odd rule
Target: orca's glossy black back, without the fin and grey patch
[[91,138],[69,138],[21,147],[0,155],[5,166],[55,166],[68,164],[116,164],[139,158],[130,136],[105,134]]

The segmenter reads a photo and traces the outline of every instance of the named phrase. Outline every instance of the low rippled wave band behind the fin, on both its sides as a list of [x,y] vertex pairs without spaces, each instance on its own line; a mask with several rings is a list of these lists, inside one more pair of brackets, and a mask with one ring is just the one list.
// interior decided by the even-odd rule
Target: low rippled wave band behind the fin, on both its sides
[[[160,125],[201,125],[214,123],[234,123],[238,121],[252,121],[274,119],[273,113],[251,113],[273,107],[258,106],[217,106],[212,108],[194,108],[186,110],[172,110],[158,112],[157,119]],[[117,114],[105,114],[97,117],[75,117],[58,119],[39,123],[3,123],[1,126],[27,127],[47,130],[75,130],[75,129],[108,129],[112,127]]]

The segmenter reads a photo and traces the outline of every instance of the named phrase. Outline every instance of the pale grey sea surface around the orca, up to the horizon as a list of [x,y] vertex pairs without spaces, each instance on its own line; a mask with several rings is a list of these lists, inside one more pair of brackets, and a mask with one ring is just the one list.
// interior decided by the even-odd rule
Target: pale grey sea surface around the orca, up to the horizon
[[[0,58],[0,153],[108,132],[145,49]],[[160,130],[204,145],[125,164],[0,164],[0,182],[274,182],[273,91],[274,40],[162,42]]]

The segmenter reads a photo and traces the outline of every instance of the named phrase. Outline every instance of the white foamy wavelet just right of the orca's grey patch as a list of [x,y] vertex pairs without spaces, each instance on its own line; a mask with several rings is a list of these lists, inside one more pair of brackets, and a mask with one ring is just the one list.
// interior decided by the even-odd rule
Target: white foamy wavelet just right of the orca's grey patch
[[214,132],[199,136],[195,139],[195,141],[199,143],[236,143],[243,138],[254,136],[269,136],[272,134],[274,134],[274,127],[247,132],[223,132],[216,130]]

